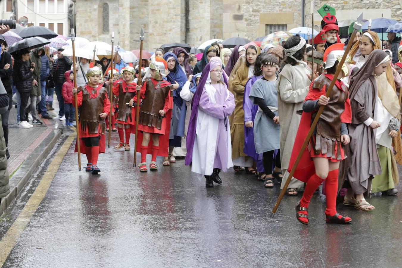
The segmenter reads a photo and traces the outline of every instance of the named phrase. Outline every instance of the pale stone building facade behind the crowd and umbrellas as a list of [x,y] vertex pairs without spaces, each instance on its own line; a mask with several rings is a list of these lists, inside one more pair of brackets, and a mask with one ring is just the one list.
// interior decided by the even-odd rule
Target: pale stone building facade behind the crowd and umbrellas
[[[111,33],[125,49],[139,48],[139,31],[145,31],[144,49],[181,42],[199,45],[212,38],[246,37],[254,40],[278,30],[304,23],[311,27],[312,0],[78,0],[77,36],[110,42]],[[320,28],[316,12],[323,4],[336,8],[338,20],[356,18],[401,20],[402,0],[314,0],[314,27]]]

